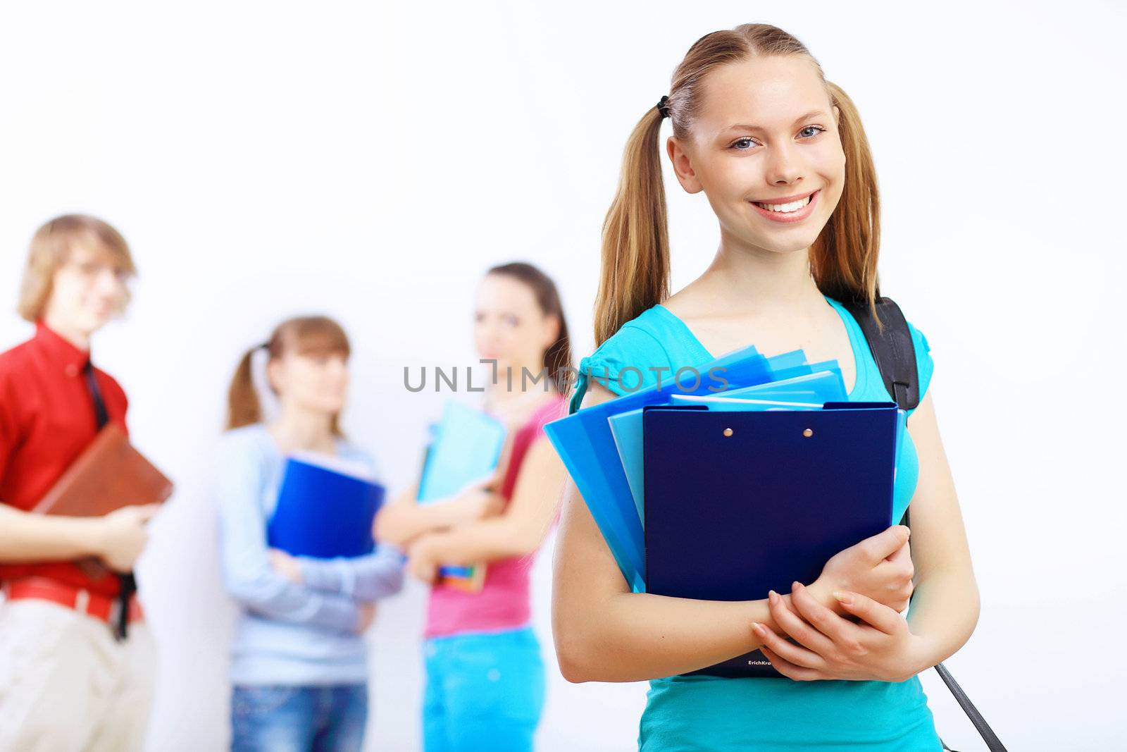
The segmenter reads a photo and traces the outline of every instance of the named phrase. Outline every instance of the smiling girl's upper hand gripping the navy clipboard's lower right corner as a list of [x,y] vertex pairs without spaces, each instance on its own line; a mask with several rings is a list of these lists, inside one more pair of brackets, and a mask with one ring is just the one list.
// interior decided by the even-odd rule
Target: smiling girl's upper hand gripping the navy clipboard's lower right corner
[[843,609],[834,591],[861,593],[897,612],[904,611],[912,598],[915,574],[908,536],[906,527],[893,525],[835,554],[810,585],[811,594],[837,613]]

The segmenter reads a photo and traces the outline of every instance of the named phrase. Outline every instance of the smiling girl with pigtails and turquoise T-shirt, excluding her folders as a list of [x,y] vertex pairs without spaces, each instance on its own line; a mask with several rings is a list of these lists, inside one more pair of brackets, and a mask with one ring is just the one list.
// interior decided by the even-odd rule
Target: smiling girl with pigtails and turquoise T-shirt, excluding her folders
[[[687,193],[703,193],[720,241],[704,273],[668,295],[659,130]],[[699,39],[625,150],[606,216],[595,310],[571,412],[636,389],[640,369],[698,366],[754,344],[836,360],[851,401],[893,401],[843,301],[878,294],[879,200],[861,121],[807,48],[748,24]],[[928,340],[909,326],[920,405],[909,410],[889,527],[841,551],[814,583],[749,602],[633,593],[569,484],[553,591],[556,648],[570,681],[650,691],[644,750],[939,750],[916,674],[955,653],[978,593],[928,384]],[[609,373],[610,389],[587,373]],[[690,499],[686,499],[686,504]],[[907,608],[913,592],[912,610]],[[793,643],[784,637],[793,638]],[[775,679],[683,676],[762,649]]]

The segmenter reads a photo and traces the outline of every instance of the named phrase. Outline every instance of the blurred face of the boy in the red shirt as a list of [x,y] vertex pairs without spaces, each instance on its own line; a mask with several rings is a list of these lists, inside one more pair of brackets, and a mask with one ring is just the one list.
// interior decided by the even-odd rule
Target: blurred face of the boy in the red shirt
[[125,306],[128,277],[108,250],[74,244],[51,278],[44,316],[66,330],[92,334]]

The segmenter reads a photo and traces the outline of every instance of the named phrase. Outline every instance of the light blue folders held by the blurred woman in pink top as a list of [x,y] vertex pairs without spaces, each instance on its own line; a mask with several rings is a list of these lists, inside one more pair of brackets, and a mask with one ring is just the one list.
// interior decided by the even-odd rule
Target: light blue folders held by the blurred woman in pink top
[[[442,421],[432,428],[418,502],[451,498],[468,484],[491,475],[500,461],[505,433],[500,421],[460,402],[449,402]],[[485,577],[485,564],[438,567],[442,584],[470,593],[481,590]]]

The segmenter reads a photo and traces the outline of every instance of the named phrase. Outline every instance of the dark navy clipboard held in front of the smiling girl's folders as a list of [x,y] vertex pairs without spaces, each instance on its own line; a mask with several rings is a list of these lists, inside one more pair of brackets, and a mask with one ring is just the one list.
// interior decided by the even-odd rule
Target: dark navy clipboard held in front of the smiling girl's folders
[[[895,404],[701,407],[642,413],[647,592],[711,601],[789,593],[893,524]],[[692,673],[781,675],[758,651]]]

